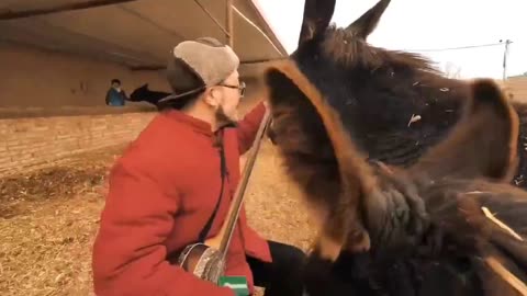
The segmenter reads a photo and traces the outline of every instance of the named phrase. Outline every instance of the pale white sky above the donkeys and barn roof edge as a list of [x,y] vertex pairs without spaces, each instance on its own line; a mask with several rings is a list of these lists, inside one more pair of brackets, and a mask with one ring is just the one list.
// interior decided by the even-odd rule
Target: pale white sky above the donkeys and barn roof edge
[[[288,53],[298,43],[304,0],[254,0]],[[332,22],[347,26],[377,0],[337,0]],[[503,77],[504,45],[444,52],[419,52],[503,43],[511,39],[507,76],[527,72],[527,1],[392,0],[368,42],[389,49],[417,52],[441,70],[461,78]],[[447,66],[449,65],[449,66]]]

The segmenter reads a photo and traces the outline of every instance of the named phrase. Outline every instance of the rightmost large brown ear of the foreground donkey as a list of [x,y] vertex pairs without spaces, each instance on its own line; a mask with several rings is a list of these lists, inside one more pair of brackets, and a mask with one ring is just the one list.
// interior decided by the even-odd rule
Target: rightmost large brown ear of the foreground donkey
[[433,178],[509,181],[517,168],[518,115],[491,79],[471,84],[464,114],[449,136],[411,170]]

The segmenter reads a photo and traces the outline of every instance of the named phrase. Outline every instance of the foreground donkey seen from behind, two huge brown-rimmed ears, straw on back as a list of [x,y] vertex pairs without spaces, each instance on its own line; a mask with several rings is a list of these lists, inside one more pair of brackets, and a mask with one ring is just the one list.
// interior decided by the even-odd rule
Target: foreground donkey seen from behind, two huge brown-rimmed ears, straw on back
[[493,80],[468,84],[460,119],[405,169],[369,163],[294,61],[265,81],[288,173],[321,218],[309,295],[527,295],[518,116]]

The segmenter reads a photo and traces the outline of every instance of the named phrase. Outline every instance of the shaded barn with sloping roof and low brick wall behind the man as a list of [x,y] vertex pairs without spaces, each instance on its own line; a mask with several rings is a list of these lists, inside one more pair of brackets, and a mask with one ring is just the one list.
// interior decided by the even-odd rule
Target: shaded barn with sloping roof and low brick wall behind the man
[[[10,151],[3,162],[0,156],[0,173],[134,137],[156,109],[106,106],[111,80],[120,79],[128,95],[145,83],[169,92],[164,69],[179,42],[211,36],[232,45],[248,84],[245,103],[261,62],[287,55],[257,5],[243,0],[8,0],[0,3],[0,118],[11,119],[0,121]],[[26,133],[36,130],[35,121],[43,132]],[[98,135],[92,128],[105,122],[123,127]],[[32,157],[49,135],[55,147]]]

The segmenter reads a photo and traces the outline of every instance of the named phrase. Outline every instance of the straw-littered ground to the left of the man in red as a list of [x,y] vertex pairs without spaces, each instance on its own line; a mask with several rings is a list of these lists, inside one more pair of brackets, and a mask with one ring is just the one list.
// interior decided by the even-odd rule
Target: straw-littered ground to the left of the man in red
[[100,189],[121,149],[0,179],[0,295],[89,295]]

